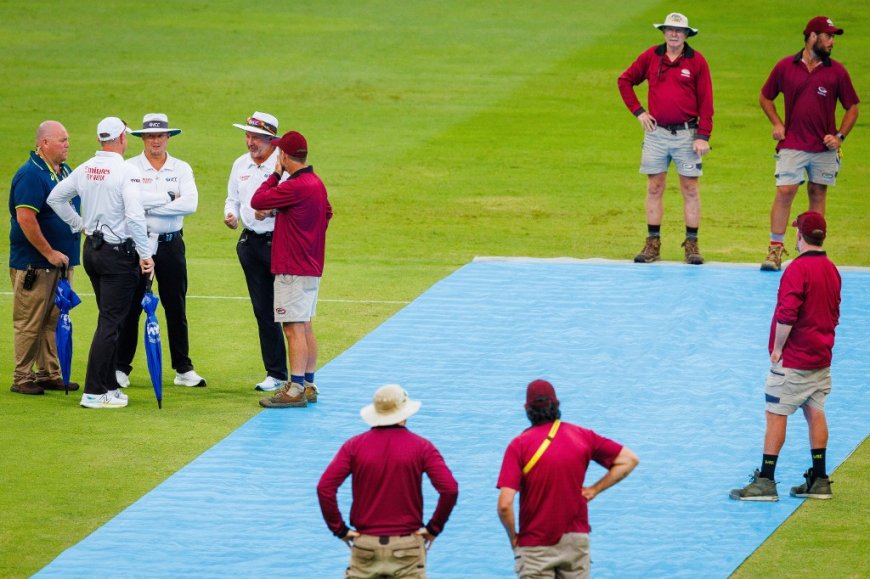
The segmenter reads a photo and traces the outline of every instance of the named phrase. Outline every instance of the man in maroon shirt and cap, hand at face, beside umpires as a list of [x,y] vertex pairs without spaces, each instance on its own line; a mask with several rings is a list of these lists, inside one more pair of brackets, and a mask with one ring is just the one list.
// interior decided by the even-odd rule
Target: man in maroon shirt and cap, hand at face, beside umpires
[[[251,198],[251,207],[275,215],[272,234],[272,273],[275,274],[275,321],[287,337],[290,381],[271,398],[260,400],[264,408],[296,408],[317,402],[314,370],[317,339],[311,318],[317,308],[317,292],[323,275],[326,228],[332,206],[326,187],[308,165],[308,143],[296,131],[273,139],[278,162]],[[279,183],[284,172],[290,178]]]

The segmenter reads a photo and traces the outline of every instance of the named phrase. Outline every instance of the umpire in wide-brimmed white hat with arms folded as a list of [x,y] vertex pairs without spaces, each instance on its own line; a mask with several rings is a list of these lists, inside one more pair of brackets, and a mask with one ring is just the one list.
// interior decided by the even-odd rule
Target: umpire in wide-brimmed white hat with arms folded
[[[127,161],[141,178],[142,206],[148,236],[157,246],[154,250],[154,276],[160,303],[166,312],[169,336],[169,354],[175,369],[175,384],[179,386],[205,386],[205,379],[193,369],[190,361],[190,343],[187,332],[187,259],[182,232],[184,216],[196,211],[199,193],[190,165],[176,159],[166,151],[169,138],[181,133],[170,128],[169,119],[162,113],[149,113],[142,119],[142,128],[130,131],[141,137],[144,150]],[[121,328],[118,341],[118,365],[115,377],[118,385],[130,385],[133,357],[139,343],[139,317],[142,314],[142,296],[146,278],[142,278],[127,320]]]

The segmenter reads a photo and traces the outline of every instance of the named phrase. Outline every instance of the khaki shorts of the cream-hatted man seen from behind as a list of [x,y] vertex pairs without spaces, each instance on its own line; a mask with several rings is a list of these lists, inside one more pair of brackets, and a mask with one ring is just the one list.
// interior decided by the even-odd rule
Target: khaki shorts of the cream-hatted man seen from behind
[[360,535],[353,540],[348,579],[408,577],[426,579],[426,546],[416,533],[401,537]]

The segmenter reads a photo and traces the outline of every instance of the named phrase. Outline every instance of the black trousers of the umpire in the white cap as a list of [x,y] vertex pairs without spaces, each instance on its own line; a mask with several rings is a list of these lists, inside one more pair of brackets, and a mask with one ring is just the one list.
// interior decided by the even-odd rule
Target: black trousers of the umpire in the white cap
[[94,249],[88,237],[84,246],[84,266],[99,310],[97,329],[88,353],[85,392],[105,394],[118,388],[115,380],[118,337],[141,278],[139,255],[135,250],[127,253],[120,245],[108,243]]

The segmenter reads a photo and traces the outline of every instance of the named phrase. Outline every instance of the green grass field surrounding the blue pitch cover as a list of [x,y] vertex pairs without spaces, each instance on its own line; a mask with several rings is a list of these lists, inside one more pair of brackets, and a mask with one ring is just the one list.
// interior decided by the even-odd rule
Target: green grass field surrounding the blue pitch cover
[[[306,135],[335,208],[316,321],[321,365],[476,255],[629,259],[640,250],[642,135],[616,77],[660,41],[651,23],[675,6],[603,8],[553,0],[266,1],[255,9],[228,0],[0,0],[4,191],[45,119],[69,130],[73,166],[93,154],[104,116],[137,125],[160,111],[184,130],[169,150],[193,166],[199,187],[199,210],[185,219],[191,356],[209,381],[205,390],[175,388],[167,368],[158,411],[140,351],[121,412],[85,412],[77,396],[62,393],[0,390],[0,575],[35,573],[259,411],[256,325],[237,234],[222,224],[229,170],[244,152],[232,123],[254,110],[276,115],[281,132]],[[823,11],[846,29],[834,57],[867,98],[870,5],[736,0],[678,9],[701,29],[691,44],[710,63],[716,100],[701,249],[708,261],[757,263],[774,189],[759,89]],[[129,154],[140,150],[134,138]],[[870,265],[868,158],[862,117],[828,200],[826,246],[841,265]],[[682,259],[675,182],[672,175],[663,227],[668,260]],[[800,195],[795,210],[806,205]],[[4,261],[8,228],[4,220]],[[91,292],[83,270],[75,287]],[[9,292],[3,277],[0,375],[11,380]],[[73,312],[80,382],[95,322],[86,297]],[[836,500],[799,508],[736,576],[870,574],[868,467],[865,441],[834,475]],[[745,465],[722,468],[739,477]]]

